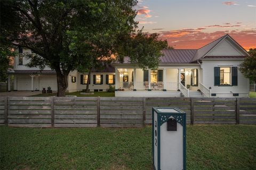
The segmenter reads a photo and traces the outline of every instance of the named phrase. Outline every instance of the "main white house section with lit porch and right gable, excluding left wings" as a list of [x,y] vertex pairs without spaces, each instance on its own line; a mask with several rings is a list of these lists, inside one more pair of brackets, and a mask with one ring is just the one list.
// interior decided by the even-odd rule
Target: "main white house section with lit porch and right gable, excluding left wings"
[[163,49],[158,70],[114,63],[116,97],[248,97],[238,67],[249,54],[229,35],[199,49]]

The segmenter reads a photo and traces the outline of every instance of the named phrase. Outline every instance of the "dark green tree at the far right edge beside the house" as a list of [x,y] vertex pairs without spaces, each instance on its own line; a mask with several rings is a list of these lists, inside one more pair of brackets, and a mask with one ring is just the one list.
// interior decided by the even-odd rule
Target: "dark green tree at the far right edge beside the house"
[[239,71],[243,73],[246,78],[256,82],[256,48],[250,49],[250,56],[246,57],[239,66]]

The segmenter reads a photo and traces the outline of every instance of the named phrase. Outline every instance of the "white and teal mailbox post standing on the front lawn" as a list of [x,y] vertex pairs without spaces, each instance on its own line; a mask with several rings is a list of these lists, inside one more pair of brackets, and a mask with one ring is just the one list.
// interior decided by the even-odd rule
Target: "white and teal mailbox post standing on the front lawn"
[[175,107],[152,108],[155,170],[186,169],[186,113]]

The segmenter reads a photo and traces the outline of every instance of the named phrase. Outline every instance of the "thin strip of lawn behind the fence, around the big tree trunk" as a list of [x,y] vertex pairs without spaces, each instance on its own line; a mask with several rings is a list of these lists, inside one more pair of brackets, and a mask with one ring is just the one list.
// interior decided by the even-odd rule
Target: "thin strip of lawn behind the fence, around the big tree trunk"
[[[77,97],[115,97],[115,92],[94,92],[93,95],[82,95],[80,94],[81,91],[77,92],[66,92],[66,95],[75,95]],[[39,95],[33,95],[34,97],[47,97],[47,96],[56,96],[57,93],[52,93],[52,94],[39,94]]]

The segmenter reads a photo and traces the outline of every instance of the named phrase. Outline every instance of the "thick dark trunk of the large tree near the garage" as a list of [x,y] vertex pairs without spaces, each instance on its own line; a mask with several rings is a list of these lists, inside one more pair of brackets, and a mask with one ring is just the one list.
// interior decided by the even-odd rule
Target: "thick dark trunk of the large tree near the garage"
[[55,69],[57,74],[57,83],[58,83],[58,97],[65,97],[65,91],[68,87],[68,74],[69,72],[61,72],[59,68]]

